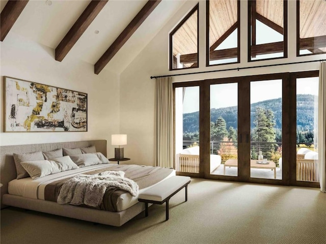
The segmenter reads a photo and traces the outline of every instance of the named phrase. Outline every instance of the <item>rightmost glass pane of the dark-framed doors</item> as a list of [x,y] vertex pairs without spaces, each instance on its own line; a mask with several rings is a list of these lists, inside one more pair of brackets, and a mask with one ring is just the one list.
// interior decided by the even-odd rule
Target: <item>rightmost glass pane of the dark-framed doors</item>
[[319,181],[318,77],[296,79],[296,180]]

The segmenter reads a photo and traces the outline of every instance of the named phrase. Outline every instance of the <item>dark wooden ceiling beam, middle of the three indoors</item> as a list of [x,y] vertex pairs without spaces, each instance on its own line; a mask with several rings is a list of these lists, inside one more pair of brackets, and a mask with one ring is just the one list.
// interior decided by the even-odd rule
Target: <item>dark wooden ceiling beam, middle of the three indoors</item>
[[73,45],[78,41],[78,39],[83,35],[88,26],[96,18],[99,12],[103,9],[108,0],[101,1],[91,1],[86,7],[82,15],[76,20],[73,26],[70,28],[69,32],[62,39],[56,48],[56,60],[61,62],[64,57],[71,50]]

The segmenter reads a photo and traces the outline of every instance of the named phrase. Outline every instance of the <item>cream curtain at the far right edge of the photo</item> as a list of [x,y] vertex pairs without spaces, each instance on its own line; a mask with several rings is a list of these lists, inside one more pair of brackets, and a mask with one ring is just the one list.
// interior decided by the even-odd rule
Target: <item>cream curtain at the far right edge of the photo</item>
[[318,93],[318,161],[320,191],[326,192],[326,62],[320,63]]

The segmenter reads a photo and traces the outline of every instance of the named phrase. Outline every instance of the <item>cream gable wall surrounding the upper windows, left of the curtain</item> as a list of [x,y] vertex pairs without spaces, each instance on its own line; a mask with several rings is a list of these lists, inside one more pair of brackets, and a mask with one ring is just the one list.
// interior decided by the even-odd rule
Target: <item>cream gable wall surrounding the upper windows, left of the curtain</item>
[[[183,71],[169,71],[168,50],[169,32],[176,26],[179,20],[187,14],[198,2],[187,1],[173,18],[151,40],[145,49],[133,60],[120,76],[120,130],[128,134],[128,145],[125,146],[126,157],[131,158],[130,163],[154,165],[155,153],[155,79],[150,76],[181,74],[189,72],[201,72],[237,67],[250,67],[279,63],[302,62],[306,60],[325,59],[325,54],[296,57],[296,19],[295,1],[288,1],[288,49],[289,57],[283,59],[263,60],[259,62],[247,62],[247,1],[241,1],[241,63],[205,67],[205,1],[199,1],[199,68]],[[173,82],[202,80],[210,78],[223,78],[234,76],[295,72],[317,70],[319,62],[284,65],[268,68],[247,69],[239,71],[214,72],[196,75],[183,75],[173,77]]]

